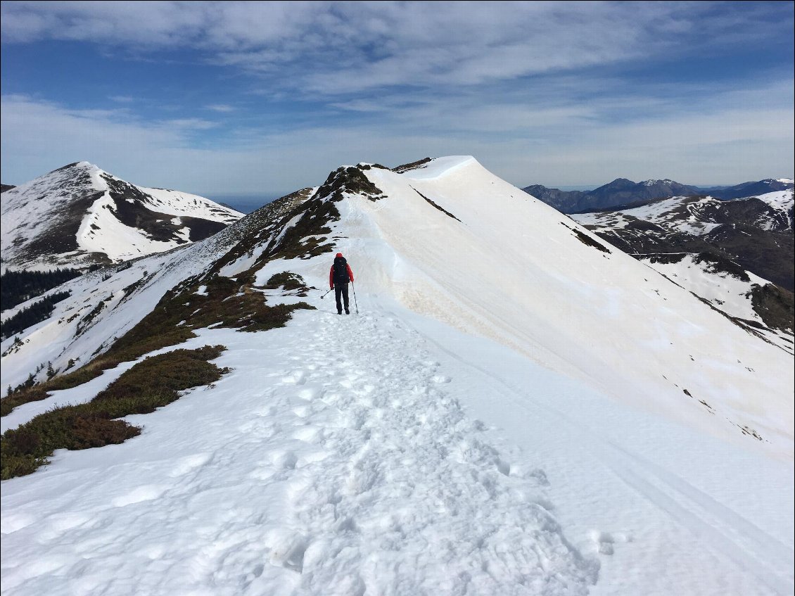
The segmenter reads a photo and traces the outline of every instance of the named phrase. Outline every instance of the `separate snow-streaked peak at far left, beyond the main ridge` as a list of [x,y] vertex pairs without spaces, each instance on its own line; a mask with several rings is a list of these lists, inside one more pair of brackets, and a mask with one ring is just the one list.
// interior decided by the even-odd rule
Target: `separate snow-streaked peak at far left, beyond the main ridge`
[[204,197],[129,184],[85,161],[0,196],[4,267],[126,261],[207,238],[242,217]]

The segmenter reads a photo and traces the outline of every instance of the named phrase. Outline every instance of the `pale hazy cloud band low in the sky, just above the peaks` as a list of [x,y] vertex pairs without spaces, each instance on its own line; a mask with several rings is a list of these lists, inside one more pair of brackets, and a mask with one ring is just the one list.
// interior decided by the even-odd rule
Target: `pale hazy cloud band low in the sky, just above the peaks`
[[[420,109],[442,111],[433,105]],[[204,195],[281,195],[322,183],[341,164],[394,166],[461,154],[474,155],[519,186],[604,184],[619,176],[737,184],[793,175],[792,110],[719,108],[707,116],[669,114],[607,126],[576,110],[522,114],[522,106],[512,105],[505,106],[505,119],[499,121],[494,114],[500,110],[481,111],[463,103],[456,109],[461,111],[451,113],[451,122],[461,118],[470,123],[445,134],[429,130],[421,120],[408,126],[400,118],[378,119],[278,134],[246,128],[235,141],[196,149],[190,142],[196,122],[147,124],[121,111],[65,110],[3,96],[3,182],[21,184],[85,160],[146,186]],[[522,135],[508,130],[517,120],[525,126]]]

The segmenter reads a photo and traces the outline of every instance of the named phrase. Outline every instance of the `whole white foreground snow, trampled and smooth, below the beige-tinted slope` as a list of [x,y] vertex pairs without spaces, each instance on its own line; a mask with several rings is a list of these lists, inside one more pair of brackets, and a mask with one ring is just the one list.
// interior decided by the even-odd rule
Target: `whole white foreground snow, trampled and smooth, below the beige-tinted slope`
[[173,346],[221,343],[232,370],[4,482],[0,592],[791,591],[790,463],[391,299],[318,295],[284,329]]

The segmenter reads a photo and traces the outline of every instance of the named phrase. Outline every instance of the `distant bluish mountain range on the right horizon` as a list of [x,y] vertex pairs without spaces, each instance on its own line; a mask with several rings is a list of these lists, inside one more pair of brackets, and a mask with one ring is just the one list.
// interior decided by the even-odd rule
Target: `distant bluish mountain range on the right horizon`
[[522,190],[536,199],[555,207],[562,213],[601,211],[608,207],[628,206],[652,199],[667,199],[672,196],[710,195],[715,199],[739,199],[793,188],[793,180],[773,179],[743,182],[728,187],[703,188],[681,184],[675,180],[645,180],[633,182],[617,178],[592,191],[561,191],[541,184],[526,186]]

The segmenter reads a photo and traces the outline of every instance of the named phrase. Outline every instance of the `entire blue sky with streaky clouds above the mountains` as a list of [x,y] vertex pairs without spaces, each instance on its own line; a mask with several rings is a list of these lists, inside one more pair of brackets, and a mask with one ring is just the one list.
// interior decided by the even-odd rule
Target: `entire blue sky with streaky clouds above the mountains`
[[473,155],[518,186],[793,176],[793,2],[2,2],[2,182],[273,198]]

